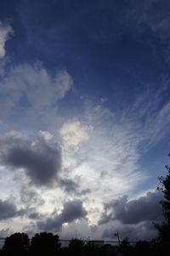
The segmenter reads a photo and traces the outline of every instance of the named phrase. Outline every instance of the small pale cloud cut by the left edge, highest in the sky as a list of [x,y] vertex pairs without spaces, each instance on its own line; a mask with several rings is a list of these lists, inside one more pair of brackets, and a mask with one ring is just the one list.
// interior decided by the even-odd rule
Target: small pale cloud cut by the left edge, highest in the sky
[[5,56],[5,43],[11,34],[13,34],[12,27],[0,21],[0,59]]

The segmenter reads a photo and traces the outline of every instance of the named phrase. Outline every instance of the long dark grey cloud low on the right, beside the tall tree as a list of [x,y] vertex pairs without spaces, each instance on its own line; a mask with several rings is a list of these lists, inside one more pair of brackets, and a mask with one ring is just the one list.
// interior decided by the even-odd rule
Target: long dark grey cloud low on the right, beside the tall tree
[[[139,222],[160,220],[162,216],[160,192],[148,192],[146,196],[127,202],[127,196],[105,204],[105,213],[100,224],[111,220],[119,220],[122,224],[138,224]],[[108,213],[110,212],[110,213]]]

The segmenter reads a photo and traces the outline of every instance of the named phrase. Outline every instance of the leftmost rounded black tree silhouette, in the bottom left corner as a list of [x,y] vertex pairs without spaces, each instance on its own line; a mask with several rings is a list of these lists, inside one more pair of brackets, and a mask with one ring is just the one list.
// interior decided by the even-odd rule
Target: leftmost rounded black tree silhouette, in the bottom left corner
[[29,237],[26,233],[14,233],[5,239],[4,255],[26,255],[29,249]]

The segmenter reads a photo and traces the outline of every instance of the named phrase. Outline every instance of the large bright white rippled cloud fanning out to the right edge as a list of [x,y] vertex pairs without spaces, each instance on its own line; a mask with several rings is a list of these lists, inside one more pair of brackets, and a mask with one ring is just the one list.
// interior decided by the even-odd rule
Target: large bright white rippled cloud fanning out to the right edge
[[[131,197],[137,190],[139,193],[139,186],[149,178],[148,170],[139,161],[143,153],[168,132],[170,105],[168,102],[160,105],[162,94],[165,93],[166,88],[155,93],[150,91],[121,114],[112,112],[102,104],[89,104],[88,101],[84,123],[87,127],[93,126],[93,133],[90,139],[84,140],[78,151],[67,149],[64,164],[69,168],[71,179],[80,177],[82,190],[91,190],[85,201],[90,223],[96,223],[103,202],[124,194]],[[64,131],[67,135],[67,126]],[[65,137],[67,140],[75,143],[71,134]]]

